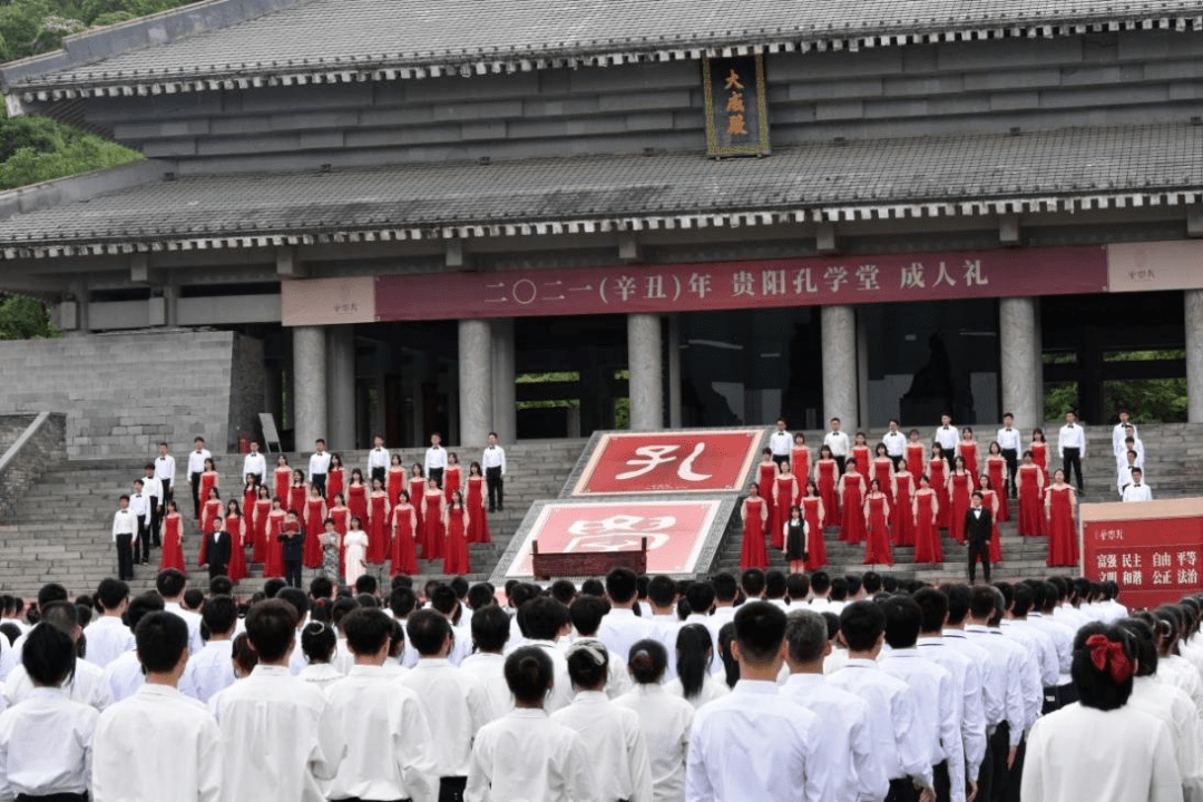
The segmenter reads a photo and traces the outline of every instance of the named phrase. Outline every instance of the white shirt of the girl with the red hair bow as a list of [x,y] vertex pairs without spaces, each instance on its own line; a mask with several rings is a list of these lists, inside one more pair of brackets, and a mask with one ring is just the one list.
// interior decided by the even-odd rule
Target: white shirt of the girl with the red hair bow
[[1181,802],[1166,725],[1132,707],[1074,702],[1042,717],[1027,738],[1024,802]]

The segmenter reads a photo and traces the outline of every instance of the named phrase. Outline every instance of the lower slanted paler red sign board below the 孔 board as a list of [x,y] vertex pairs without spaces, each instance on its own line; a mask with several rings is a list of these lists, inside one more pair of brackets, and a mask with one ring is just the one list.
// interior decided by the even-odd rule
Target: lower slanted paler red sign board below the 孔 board
[[531,543],[539,553],[604,554],[638,551],[647,537],[648,574],[693,574],[721,501],[552,501],[535,519],[505,571],[528,577]]

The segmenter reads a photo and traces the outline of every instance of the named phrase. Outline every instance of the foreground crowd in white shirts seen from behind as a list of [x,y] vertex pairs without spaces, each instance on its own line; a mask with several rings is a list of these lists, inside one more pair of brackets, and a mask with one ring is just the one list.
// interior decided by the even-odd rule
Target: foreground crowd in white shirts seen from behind
[[[174,570],[0,598],[0,798],[1198,798],[1203,598],[875,572]],[[498,596],[503,595],[504,601]]]

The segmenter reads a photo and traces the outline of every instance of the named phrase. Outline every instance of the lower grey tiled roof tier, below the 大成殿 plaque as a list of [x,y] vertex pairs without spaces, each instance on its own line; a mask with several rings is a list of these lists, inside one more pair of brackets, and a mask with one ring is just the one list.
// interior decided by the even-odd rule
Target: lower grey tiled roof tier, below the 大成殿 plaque
[[207,176],[14,215],[0,221],[0,251],[13,259],[1185,206],[1203,201],[1201,153],[1203,126],[1161,125],[830,142],[722,161],[675,153]]

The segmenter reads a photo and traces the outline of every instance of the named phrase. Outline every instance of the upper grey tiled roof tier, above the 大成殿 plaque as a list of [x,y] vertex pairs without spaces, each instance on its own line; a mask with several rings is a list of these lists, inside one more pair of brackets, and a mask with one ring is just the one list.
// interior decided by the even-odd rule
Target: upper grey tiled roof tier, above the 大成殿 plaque
[[[226,8],[233,2],[247,7],[241,22]],[[67,40],[65,53],[8,65],[6,90],[45,101],[724,53],[1203,29],[1198,0],[278,0],[277,10],[263,13],[268,6],[221,0],[185,7],[173,13],[224,13],[220,24],[232,19],[225,28],[200,24],[201,32],[166,43],[158,43],[171,38],[162,22],[81,34]]]

